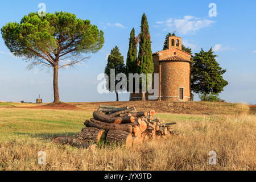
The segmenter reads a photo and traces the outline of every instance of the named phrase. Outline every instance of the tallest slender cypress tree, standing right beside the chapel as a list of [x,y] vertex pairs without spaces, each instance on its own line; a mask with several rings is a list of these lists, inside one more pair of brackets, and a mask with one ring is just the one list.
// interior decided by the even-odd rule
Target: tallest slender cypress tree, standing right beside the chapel
[[[153,73],[154,72],[154,63],[152,60],[152,51],[151,51],[151,36],[148,31],[148,22],[147,17],[143,13],[141,19],[141,34],[139,34],[139,55],[138,55],[138,69],[137,73]],[[142,85],[143,86],[143,85]],[[146,100],[145,93],[142,93],[142,100]]]

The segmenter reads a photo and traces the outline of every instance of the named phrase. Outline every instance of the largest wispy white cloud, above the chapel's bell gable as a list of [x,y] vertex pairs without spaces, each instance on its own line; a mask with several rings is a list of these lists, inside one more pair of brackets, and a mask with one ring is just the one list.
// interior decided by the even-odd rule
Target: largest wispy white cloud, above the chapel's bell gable
[[[167,19],[162,24],[164,26],[163,31],[176,30],[179,34],[188,34],[189,32],[195,32],[201,28],[207,28],[214,23],[213,20],[196,18],[195,16],[183,16],[180,19]],[[158,23],[159,24],[159,23]]]

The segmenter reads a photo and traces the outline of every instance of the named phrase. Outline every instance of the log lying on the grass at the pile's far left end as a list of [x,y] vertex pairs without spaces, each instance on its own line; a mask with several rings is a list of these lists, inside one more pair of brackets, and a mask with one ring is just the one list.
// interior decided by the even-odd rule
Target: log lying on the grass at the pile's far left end
[[73,137],[56,137],[52,140],[53,144],[69,144],[75,147],[88,148],[91,151],[96,149],[96,144],[92,144],[92,142],[80,140],[78,138]]

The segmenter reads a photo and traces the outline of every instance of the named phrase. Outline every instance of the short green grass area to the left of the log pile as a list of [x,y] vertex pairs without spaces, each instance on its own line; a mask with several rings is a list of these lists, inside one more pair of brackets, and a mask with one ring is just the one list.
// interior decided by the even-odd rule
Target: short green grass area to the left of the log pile
[[92,118],[90,111],[0,109],[0,140],[17,135],[54,138],[77,134],[85,119]]

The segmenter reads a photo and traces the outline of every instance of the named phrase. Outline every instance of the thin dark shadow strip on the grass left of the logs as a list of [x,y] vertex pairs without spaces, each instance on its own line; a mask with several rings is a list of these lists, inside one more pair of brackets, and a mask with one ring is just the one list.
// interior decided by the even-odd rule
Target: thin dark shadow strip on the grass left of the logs
[[27,135],[31,138],[38,138],[45,141],[51,141],[52,139],[56,137],[76,137],[77,133],[75,132],[64,132],[64,133],[14,133],[15,135]]

